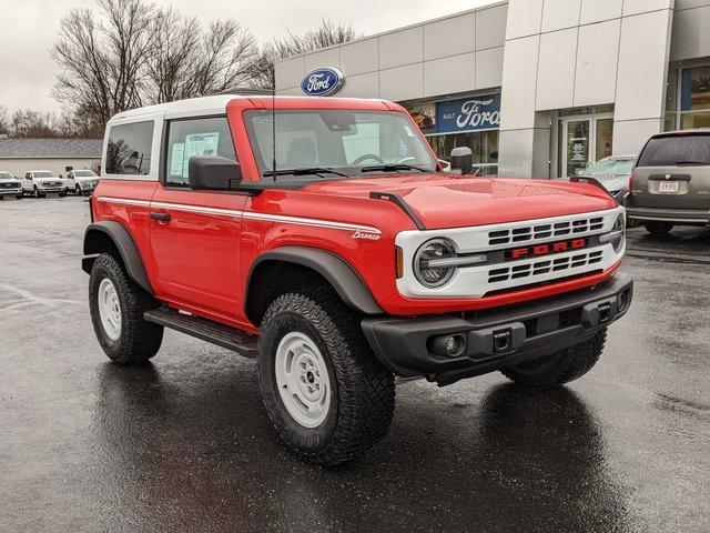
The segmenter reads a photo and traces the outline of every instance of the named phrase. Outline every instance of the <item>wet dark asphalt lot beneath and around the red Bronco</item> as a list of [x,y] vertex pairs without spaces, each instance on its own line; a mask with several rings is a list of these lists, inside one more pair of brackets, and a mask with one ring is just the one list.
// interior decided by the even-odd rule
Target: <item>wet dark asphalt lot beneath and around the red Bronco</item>
[[631,230],[629,314],[587,376],[398,386],[366,460],[294,459],[255,363],[168,332],[109,362],[88,203],[0,202],[0,532],[710,531],[710,230]]

